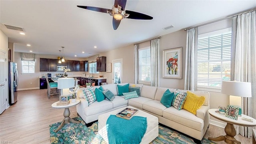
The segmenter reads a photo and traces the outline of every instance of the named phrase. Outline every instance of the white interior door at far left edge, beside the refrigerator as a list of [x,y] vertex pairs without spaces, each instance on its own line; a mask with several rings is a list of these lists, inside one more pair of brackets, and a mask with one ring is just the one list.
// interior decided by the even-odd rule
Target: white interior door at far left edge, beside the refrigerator
[[7,100],[7,88],[8,84],[6,81],[7,73],[7,64],[6,64],[6,52],[0,50],[0,114],[6,109],[6,100]]

